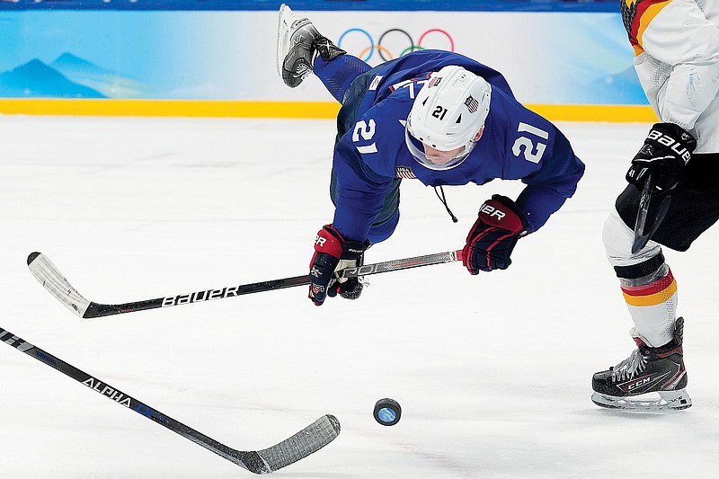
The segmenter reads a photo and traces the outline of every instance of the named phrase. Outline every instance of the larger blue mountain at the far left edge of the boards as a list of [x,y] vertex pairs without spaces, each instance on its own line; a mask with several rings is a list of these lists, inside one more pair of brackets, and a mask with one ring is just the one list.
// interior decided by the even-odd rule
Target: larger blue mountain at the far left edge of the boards
[[0,73],[0,96],[6,98],[105,98],[93,88],[76,84],[35,58]]

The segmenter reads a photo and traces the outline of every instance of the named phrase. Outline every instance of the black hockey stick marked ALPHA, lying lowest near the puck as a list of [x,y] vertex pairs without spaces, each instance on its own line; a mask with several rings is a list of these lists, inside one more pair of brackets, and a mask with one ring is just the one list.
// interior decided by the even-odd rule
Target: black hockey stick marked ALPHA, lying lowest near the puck
[[240,451],[228,448],[224,444],[217,442],[217,440],[209,438],[197,430],[193,430],[182,422],[176,421],[170,416],[151,408],[147,404],[139,402],[132,396],[126,395],[119,389],[115,389],[97,377],[93,377],[75,368],[62,359],[58,359],[52,354],[49,354],[49,352],[40,350],[37,346],[22,340],[3,328],[0,328],[0,341],[6,342],[16,350],[21,350],[28,356],[38,359],[51,368],[58,369],[61,373],[72,377],[75,381],[84,384],[84,386],[93,389],[93,391],[109,397],[115,403],[142,414],[147,419],[157,422],[161,426],[181,435],[183,438],[190,439],[203,448],[214,452],[217,456],[225,457],[228,461],[254,474],[269,474],[284,466],[289,466],[324,448],[324,446],[332,442],[333,439],[340,434],[340,421],[337,421],[337,418],[332,414],[325,414],[305,429],[300,430],[297,434],[275,444],[271,448],[256,451]]

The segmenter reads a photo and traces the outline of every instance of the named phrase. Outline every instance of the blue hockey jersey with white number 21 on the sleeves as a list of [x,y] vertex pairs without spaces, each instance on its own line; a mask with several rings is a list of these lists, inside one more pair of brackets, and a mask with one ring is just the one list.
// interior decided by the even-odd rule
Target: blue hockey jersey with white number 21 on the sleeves
[[[484,77],[492,85],[492,100],[484,134],[471,154],[452,169],[435,171],[420,164],[407,149],[404,124],[430,73],[448,65]],[[345,238],[362,241],[368,237],[385,194],[398,177],[414,177],[429,186],[521,180],[527,186],[517,203],[527,213],[532,231],[543,226],[576,191],[584,164],[569,141],[548,120],[522,106],[502,74],[492,68],[457,53],[421,50],[368,74],[367,89],[345,100],[345,105],[358,102],[351,119],[354,127],[334,147],[339,194],[333,226]]]

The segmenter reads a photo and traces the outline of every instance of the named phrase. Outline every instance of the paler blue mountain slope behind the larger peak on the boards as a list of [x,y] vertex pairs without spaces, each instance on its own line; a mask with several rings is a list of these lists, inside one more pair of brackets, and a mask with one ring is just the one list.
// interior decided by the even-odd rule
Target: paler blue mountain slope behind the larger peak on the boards
[[50,63],[50,67],[75,84],[92,88],[108,98],[146,98],[154,90],[149,84],[115,70],[99,67],[72,53],[63,53]]

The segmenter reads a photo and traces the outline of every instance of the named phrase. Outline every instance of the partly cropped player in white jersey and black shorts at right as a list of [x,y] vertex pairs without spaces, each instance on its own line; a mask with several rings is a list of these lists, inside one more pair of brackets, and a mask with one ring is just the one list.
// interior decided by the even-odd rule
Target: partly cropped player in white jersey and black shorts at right
[[[620,0],[635,69],[654,112],[631,183],[604,226],[603,240],[634,320],[638,348],[592,378],[592,401],[625,409],[691,405],[677,282],[661,246],[686,251],[719,219],[719,4],[713,0]],[[670,196],[650,241],[632,253],[641,190],[653,184],[647,217]],[[651,227],[652,225],[647,225]],[[650,229],[651,231],[651,229]],[[659,397],[657,394],[659,393]],[[637,397],[638,396],[638,397]]]

